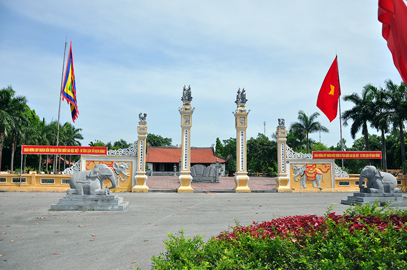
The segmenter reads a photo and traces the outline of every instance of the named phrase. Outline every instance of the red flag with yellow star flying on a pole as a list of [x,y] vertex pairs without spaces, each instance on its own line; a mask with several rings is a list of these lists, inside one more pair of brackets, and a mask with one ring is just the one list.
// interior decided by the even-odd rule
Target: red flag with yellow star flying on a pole
[[316,107],[327,115],[330,122],[336,118],[340,96],[337,58],[338,56],[335,57],[334,62],[328,70],[327,76],[325,76],[321,90],[319,90],[318,100],[316,101]]

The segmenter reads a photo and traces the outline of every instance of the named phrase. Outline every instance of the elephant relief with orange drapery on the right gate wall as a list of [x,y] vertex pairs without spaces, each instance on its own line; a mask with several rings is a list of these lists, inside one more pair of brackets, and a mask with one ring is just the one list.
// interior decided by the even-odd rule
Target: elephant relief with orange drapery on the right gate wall
[[[325,166],[325,164],[323,164],[323,166],[325,166],[325,170],[322,171],[321,168],[316,168],[315,164],[312,164],[311,166],[307,166],[307,164],[293,164],[293,170],[295,172],[295,174],[292,174],[294,176],[294,180],[296,182],[300,181],[301,183],[301,188],[305,189],[307,186],[305,185],[305,182],[307,180],[312,182],[312,186],[313,188],[318,188],[318,189],[322,189],[321,188],[321,179],[322,182],[324,182],[324,177],[322,175],[323,172],[326,172],[329,170],[329,167]],[[311,176],[312,174],[312,176]],[[297,176],[300,176],[297,179]],[[316,185],[315,185],[316,182]]]

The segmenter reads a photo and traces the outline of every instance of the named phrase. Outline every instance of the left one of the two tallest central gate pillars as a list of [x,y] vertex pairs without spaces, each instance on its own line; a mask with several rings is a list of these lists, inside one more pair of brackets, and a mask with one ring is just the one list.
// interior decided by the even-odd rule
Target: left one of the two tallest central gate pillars
[[192,113],[195,108],[191,108],[191,86],[188,88],[184,85],[183,95],[181,98],[183,105],[179,108],[181,114],[182,144],[181,144],[181,167],[180,167],[180,187],[178,192],[194,192],[191,187],[191,127]]

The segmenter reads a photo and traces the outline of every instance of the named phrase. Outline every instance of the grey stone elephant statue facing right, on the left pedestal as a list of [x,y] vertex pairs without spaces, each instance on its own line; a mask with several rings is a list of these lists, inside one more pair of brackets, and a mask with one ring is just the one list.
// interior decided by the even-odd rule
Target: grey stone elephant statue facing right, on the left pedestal
[[[109,179],[111,187],[103,189],[104,179]],[[116,187],[115,176],[106,164],[96,164],[92,170],[80,171],[71,176],[69,180],[71,189],[67,194],[76,195],[107,195],[110,189]]]

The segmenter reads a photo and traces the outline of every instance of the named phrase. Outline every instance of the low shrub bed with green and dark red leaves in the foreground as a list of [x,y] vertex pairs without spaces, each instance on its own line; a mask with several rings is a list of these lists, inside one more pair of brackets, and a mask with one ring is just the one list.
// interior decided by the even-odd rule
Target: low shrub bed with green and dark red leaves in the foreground
[[153,269],[407,269],[407,211],[378,203],[343,216],[294,216],[241,226],[203,243],[168,234]]

